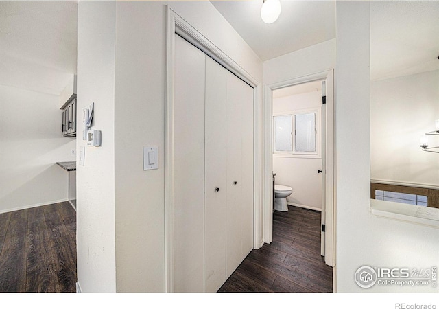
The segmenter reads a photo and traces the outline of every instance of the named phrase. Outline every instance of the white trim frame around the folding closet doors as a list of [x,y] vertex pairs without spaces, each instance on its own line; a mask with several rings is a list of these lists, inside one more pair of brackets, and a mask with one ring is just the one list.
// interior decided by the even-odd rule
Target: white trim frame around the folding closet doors
[[165,107],[165,291],[174,292],[174,188],[173,188],[173,108],[174,108],[174,38],[181,36],[193,44],[205,54],[209,55],[220,65],[234,73],[238,78],[253,87],[254,106],[254,197],[253,197],[253,229],[254,249],[259,249],[263,244],[261,235],[261,195],[262,185],[262,140],[259,133],[262,129],[262,122],[258,115],[261,113],[259,107],[260,83],[253,78],[245,69],[240,67],[232,58],[228,57],[221,49],[216,47],[208,38],[198,30],[189,25],[182,17],[167,6],[167,58],[166,58],[166,107]]

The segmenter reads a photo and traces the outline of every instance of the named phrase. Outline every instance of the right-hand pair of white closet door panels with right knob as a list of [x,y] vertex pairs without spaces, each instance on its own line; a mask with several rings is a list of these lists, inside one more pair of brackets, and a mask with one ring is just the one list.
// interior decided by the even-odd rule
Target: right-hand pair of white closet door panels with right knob
[[227,115],[226,277],[253,248],[253,89],[230,72]]

